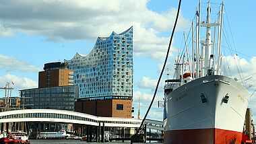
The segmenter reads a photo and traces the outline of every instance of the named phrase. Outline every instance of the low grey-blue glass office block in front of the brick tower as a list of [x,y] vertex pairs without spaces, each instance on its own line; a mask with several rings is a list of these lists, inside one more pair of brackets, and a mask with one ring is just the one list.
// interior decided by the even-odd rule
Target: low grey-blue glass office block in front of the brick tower
[[[22,104],[28,109],[74,110],[75,85],[20,90]],[[24,102],[23,102],[24,101]],[[22,105],[21,104],[21,105]]]

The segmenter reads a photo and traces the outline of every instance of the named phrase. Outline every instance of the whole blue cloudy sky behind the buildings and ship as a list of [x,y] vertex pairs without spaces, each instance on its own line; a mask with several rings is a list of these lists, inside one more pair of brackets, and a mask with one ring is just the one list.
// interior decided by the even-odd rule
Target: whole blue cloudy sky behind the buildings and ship
[[[183,48],[183,32],[189,31],[198,3],[181,3],[166,66],[171,74],[174,58]],[[214,11],[221,1],[211,3]],[[119,34],[133,26],[133,116],[137,117],[139,98],[143,116],[162,69],[177,6],[178,1],[174,0],[1,0],[0,87],[13,81],[12,96],[18,96],[19,89],[38,87],[38,71],[42,71],[44,63],[72,59],[76,52],[88,55],[98,36],[107,37],[113,31]],[[247,81],[252,84],[251,93],[256,87],[255,7],[256,1],[225,1],[224,30],[230,31],[225,35],[230,43],[222,43],[224,63],[232,77],[239,76],[237,67],[243,77],[252,77]],[[236,52],[230,52],[229,47]],[[164,98],[166,78],[164,74],[148,118],[162,120],[162,108],[158,108],[157,102]],[[0,94],[4,96],[3,92]],[[249,104],[254,115],[255,97]]]

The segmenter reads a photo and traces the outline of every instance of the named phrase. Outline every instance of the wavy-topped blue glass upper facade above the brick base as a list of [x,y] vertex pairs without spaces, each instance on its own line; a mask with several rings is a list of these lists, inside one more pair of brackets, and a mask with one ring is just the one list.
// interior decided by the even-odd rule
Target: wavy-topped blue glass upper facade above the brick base
[[65,63],[73,69],[79,98],[132,97],[133,27],[121,34],[99,37],[89,55],[77,53]]

